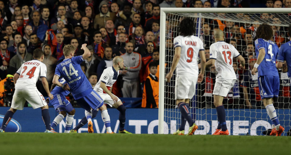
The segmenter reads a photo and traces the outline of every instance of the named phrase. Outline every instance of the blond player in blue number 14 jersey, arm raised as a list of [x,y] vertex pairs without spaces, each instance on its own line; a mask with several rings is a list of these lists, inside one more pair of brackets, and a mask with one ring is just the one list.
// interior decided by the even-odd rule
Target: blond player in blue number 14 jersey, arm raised
[[[91,55],[86,45],[83,44],[81,47],[84,50],[82,56],[74,56],[75,47],[73,45],[65,45],[63,48],[65,59],[57,65],[52,83],[62,88],[66,87],[70,89],[79,106],[85,109],[85,116],[88,120],[88,132],[92,133],[91,109],[97,110],[99,108],[99,110],[106,110],[106,106],[103,105],[103,99],[92,89],[89,80],[80,67],[80,63]],[[67,81],[69,88],[59,82],[60,77],[63,77]]]

